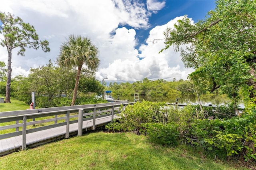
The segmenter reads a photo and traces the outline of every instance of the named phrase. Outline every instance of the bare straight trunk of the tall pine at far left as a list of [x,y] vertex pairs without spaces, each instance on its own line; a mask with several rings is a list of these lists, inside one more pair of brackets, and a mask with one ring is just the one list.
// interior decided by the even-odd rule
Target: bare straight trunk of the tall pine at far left
[[5,92],[5,102],[11,103],[10,91],[11,91],[11,78],[12,78],[12,51],[8,50],[8,63],[7,63],[7,81],[6,81],[6,92]]

